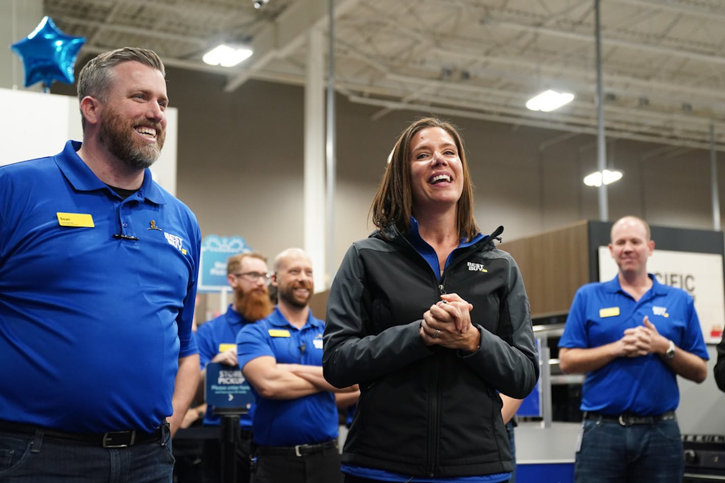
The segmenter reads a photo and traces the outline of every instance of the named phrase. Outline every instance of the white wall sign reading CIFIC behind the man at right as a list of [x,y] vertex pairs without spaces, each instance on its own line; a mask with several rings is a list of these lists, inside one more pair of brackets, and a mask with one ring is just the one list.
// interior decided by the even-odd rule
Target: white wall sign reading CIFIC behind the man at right
[[[719,253],[658,250],[647,260],[647,272],[663,285],[682,288],[695,299],[695,309],[705,343],[718,343],[725,325],[723,256]],[[599,247],[599,280],[612,280],[618,273],[609,248]]]

